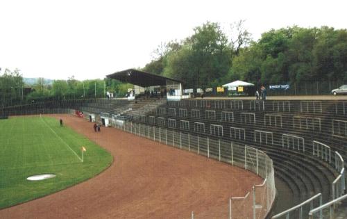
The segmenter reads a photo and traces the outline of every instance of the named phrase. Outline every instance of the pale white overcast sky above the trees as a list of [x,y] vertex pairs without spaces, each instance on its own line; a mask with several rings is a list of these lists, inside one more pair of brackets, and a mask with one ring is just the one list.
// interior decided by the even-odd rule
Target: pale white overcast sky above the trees
[[253,39],[293,26],[347,28],[347,1],[313,0],[1,0],[0,67],[24,77],[102,79],[144,67],[161,42],[182,40],[195,26],[246,20]]

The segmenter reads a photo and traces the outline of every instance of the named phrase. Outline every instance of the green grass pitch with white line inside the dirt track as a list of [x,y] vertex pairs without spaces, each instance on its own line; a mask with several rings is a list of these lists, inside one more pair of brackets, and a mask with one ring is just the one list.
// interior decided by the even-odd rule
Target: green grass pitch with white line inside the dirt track
[[[81,146],[85,146],[82,163]],[[97,175],[112,156],[52,117],[0,120],[0,209],[48,195]],[[56,177],[28,181],[31,175]]]

